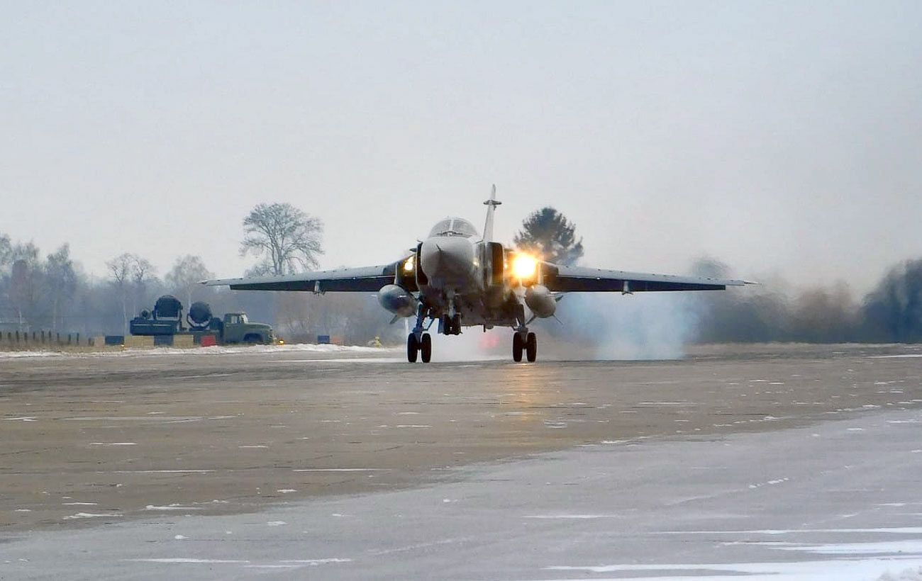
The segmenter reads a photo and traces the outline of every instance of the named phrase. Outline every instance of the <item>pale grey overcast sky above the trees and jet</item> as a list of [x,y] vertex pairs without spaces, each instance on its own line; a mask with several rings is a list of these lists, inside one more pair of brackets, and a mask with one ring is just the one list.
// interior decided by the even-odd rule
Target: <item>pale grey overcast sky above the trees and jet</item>
[[241,221],[323,267],[550,204],[584,263],[867,287],[922,256],[922,3],[0,2],[0,231],[219,275]]

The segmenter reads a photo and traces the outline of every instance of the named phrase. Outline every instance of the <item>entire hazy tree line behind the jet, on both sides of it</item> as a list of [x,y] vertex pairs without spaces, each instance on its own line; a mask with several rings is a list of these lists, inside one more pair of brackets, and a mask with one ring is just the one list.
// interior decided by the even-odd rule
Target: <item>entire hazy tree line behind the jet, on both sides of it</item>
[[[254,257],[247,275],[281,275],[315,268],[323,253],[323,223],[287,203],[259,204],[242,220],[242,256]],[[526,216],[514,236],[519,250],[561,264],[584,254],[576,227],[552,207]],[[403,326],[373,296],[233,292],[205,287],[213,278],[199,256],[183,255],[160,276],[145,257],[124,252],[106,261],[106,276],[85,273],[62,245],[48,254],[31,242],[0,233],[0,331],[48,330],[87,335],[123,334],[128,321],[157,296],[172,294],[188,308],[207,301],[213,312],[245,310],[252,320],[273,324],[291,340],[314,341],[328,334],[346,343],[403,339]],[[731,277],[727,265],[697,261],[698,275]],[[894,265],[866,296],[856,299],[845,284],[788,294],[781,281],[726,293],[677,296],[694,316],[693,339],[702,343],[919,343],[922,342],[922,259]],[[562,304],[561,304],[562,305]],[[553,334],[578,332],[550,330]]]

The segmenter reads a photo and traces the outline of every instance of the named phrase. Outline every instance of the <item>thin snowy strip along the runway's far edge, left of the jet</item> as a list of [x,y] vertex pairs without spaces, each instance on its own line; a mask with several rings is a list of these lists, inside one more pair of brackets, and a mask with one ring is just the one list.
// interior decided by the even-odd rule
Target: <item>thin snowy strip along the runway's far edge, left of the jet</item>
[[177,347],[154,347],[148,349],[123,349],[121,351],[98,351],[76,353],[67,351],[0,351],[0,359],[21,357],[121,357],[138,355],[215,355],[215,354],[260,354],[260,353],[390,353],[400,351],[396,347],[363,347],[359,345],[331,345],[301,343],[290,345],[215,345],[212,347],[195,347],[180,349]]

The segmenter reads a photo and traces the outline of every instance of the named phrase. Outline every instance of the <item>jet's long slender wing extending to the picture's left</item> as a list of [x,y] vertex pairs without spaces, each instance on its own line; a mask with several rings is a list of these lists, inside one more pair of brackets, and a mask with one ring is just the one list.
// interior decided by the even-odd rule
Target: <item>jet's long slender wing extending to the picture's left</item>
[[231,290],[313,291],[315,293],[376,293],[394,282],[396,263],[361,268],[340,268],[333,271],[290,274],[288,276],[257,276],[202,281],[207,286],[230,286]]

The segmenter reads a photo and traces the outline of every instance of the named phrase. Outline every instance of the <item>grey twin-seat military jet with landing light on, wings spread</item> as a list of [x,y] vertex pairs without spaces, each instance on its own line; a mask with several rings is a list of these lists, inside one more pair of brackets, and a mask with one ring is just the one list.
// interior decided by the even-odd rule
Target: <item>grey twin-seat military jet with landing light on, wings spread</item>
[[501,202],[493,186],[483,236],[463,218],[448,217],[399,260],[379,266],[333,271],[203,281],[232,290],[377,293],[381,306],[401,318],[416,317],[407,338],[407,359],[429,363],[432,324],[457,335],[463,327],[513,329],[513,359],[534,362],[538,339],[528,325],[554,315],[563,293],[724,290],[746,281],[625,273],[563,266],[493,240],[493,213]]

